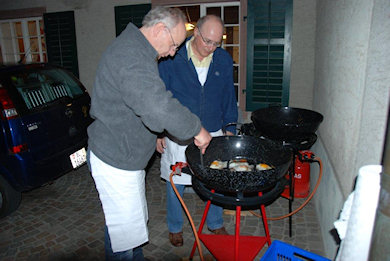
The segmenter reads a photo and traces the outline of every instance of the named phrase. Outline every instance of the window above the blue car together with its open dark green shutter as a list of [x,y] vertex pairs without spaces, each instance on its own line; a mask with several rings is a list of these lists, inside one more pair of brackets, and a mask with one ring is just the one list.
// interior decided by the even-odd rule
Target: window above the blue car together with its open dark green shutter
[[44,11],[29,9],[34,17],[0,21],[0,63],[49,62],[78,77],[74,12]]

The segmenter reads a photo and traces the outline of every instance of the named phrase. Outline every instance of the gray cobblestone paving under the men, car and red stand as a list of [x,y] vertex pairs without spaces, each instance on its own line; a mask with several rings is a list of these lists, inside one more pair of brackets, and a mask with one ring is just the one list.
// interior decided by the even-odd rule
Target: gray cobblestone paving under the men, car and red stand
[[[158,160],[152,161],[146,179],[150,242],[144,246],[144,255],[153,261],[188,260],[194,242],[189,223],[184,228],[183,247],[175,248],[168,240],[165,184],[159,178]],[[198,226],[204,203],[194,193],[186,193],[184,201]],[[302,202],[303,199],[296,199],[293,208]],[[288,201],[284,198],[266,208],[268,217],[284,215],[287,210]],[[234,234],[234,216],[225,213],[224,220],[228,232]],[[19,209],[0,220],[0,260],[104,260],[103,224],[100,201],[85,165],[52,184],[23,193]],[[270,221],[269,228],[272,240],[324,255],[311,203],[294,215],[292,237],[289,237],[288,219]],[[261,221],[254,216],[243,216],[241,234],[263,236]],[[266,249],[267,246],[255,260],[259,260]],[[212,260],[207,249],[203,247],[203,251]]]

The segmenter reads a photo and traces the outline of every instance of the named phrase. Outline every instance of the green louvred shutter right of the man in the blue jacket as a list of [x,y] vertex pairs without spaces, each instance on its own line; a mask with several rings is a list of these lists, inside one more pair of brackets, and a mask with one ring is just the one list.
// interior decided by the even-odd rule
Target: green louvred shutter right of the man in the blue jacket
[[248,0],[246,110],[288,106],[292,0]]

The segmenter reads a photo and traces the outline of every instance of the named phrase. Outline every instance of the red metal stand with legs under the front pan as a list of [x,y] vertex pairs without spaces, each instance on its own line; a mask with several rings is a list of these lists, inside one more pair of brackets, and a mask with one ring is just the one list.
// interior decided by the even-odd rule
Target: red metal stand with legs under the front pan
[[[260,197],[261,195],[262,193],[259,192]],[[208,200],[198,229],[198,236],[199,239],[203,242],[203,244],[217,260],[252,261],[263,248],[265,243],[267,243],[268,246],[271,245],[271,238],[269,235],[264,205],[260,206],[260,211],[264,224],[265,237],[240,236],[241,206],[236,206],[235,235],[202,234],[203,226],[206,221],[210,204],[211,202],[210,200]],[[192,258],[194,257],[196,247],[197,246],[195,242],[194,246],[192,247],[190,260],[192,260]]]

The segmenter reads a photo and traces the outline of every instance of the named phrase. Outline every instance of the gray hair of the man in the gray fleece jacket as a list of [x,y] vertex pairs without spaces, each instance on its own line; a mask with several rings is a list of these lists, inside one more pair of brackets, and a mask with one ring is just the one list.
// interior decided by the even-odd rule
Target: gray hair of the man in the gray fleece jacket
[[180,22],[187,22],[187,18],[180,9],[156,6],[145,15],[142,25],[145,27],[152,27],[157,23],[163,23],[171,29]]

